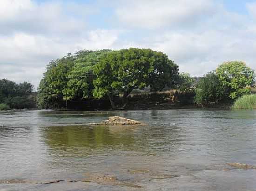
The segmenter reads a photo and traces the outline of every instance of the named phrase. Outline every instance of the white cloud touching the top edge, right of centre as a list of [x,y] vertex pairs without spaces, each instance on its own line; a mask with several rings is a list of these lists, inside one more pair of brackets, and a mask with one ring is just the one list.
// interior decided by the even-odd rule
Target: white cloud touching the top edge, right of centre
[[116,14],[126,25],[152,29],[190,25],[218,6],[213,0],[130,0],[122,1]]

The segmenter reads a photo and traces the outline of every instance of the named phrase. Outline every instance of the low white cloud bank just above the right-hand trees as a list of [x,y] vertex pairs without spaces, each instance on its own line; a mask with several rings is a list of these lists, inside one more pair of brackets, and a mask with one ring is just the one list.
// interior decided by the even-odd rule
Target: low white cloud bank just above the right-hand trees
[[[225,61],[242,60],[256,69],[256,34],[246,30],[230,32],[225,30],[206,30],[204,32],[167,32],[153,49],[166,52],[180,66],[181,71],[193,76],[202,76],[215,70]],[[248,36],[250,38],[244,38]]]

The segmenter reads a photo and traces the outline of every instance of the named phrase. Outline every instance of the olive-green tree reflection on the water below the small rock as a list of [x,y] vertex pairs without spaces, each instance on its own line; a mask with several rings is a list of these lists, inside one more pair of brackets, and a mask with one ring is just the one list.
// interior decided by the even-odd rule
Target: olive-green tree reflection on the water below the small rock
[[95,126],[41,127],[42,140],[54,151],[79,148],[80,154],[88,155],[91,149],[121,147],[129,148],[135,144],[133,129]]

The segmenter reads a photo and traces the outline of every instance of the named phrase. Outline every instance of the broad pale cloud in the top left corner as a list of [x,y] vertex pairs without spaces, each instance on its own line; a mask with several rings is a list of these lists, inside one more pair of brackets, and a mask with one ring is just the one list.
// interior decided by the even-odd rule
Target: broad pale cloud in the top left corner
[[40,33],[51,36],[78,35],[86,29],[88,14],[97,13],[89,5],[32,0],[1,0],[0,33]]

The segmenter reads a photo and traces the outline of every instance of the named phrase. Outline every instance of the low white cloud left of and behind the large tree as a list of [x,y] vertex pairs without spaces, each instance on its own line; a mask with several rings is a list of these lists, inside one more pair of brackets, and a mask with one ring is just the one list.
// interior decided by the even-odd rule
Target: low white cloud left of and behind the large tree
[[0,79],[27,80],[37,87],[50,60],[63,57],[67,52],[112,48],[120,32],[91,30],[68,40],[27,33],[0,36]]

